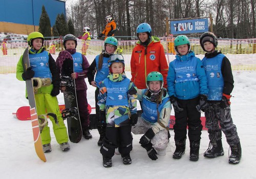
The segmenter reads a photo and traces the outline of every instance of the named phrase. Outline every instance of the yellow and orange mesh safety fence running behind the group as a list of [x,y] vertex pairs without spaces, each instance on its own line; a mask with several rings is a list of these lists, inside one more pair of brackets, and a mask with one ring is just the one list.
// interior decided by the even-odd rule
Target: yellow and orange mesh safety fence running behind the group
[[[1,39],[0,39],[1,40]],[[125,70],[130,71],[130,59],[133,48],[136,46],[137,40],[119,40],[117,53],[121,53],[125,59]],[[77,52],[81,52],[84,43],[77,40]],[[162,37],[161,43],[165,49],[166,59],[168,62],[175,59],[174,37]],[[56,59],[58,53],[63,50],[62,39],[45,40],[44,46],[53,58]],[[88,43],[87,43],[88,44]],[[7,41],[7,49],[3,49],[0,42],[0,73],[15,73],[16,64],[27,48],[26,41]],[[190,38],[191,50],[195,52],[197,57],[202,59],[204,51],[202,50],[199,38]],[[91,64],[95,56],[100,54],[104,49],[103,40],[91,40],[86,50],[86,57]],[[256,38],[252,39],[218,39],[218,50],[230,60],[233,70],[256,70]]]

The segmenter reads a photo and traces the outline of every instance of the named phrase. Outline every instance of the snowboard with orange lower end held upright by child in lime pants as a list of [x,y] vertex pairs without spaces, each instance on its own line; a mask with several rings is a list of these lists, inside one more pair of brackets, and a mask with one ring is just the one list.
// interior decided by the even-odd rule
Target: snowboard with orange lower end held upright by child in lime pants
[[[23,54],[22,61],[23,61],[23,69],[25,72],[27,70],[27,68],[30,67],[29,49],[28,48],[25,50],[25,52]],[[37,116],[37,112],[36,112],[35,94],[34,94],[34,87],[33,87],[32,80],[33,80],[33,78],[26,80],[26,89],[27,89],[29,105],[30,105],[30,116],[31,116],[31,122],[32,122],[35,151],[36,151],[37,156],[42,161],[46,162],[46,156],[45,156],[44,150],[42,149],[42,141],[41,141],[41,136],[40,136],[38,116]]]

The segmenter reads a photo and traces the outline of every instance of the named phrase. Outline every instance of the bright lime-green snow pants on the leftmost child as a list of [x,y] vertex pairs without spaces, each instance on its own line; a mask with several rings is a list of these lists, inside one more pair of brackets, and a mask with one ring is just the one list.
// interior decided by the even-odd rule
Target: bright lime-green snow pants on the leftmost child
[[[52,117],[49,117],[52,121],[53,132],[58,144],[68,142],[67,128],[63,122],[59,111],[57,97],[52,97],[49,93],[40,93],[35,95],[37,115],[45,115],[47,113],[54,113],[57,116],[58,124],[55,123]],[[42,145],[51,143],[50,127],[48,123],[41,131]]]

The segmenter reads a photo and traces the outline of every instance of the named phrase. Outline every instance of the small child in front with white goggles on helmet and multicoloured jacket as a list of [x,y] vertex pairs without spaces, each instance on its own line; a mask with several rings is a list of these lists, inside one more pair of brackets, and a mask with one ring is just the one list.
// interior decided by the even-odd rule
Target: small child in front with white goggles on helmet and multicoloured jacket
[[98,105],[100,119],[106,123],[105,137],[100,153],[103,166],[112,167],[112,156],[118,148],[124,165],[132,163],[132,125],[137,122],[136,87],[124,74],[124,59],[115,54],[109,60],[110,73],[99,84]]

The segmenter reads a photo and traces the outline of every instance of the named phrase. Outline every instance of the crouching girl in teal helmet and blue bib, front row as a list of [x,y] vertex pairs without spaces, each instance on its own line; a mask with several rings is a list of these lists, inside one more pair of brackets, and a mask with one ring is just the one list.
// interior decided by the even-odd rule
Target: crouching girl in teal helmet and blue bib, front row
[[132,127],[134,134],[143,134],[140,144],[152,160],[165,155],[168,144],[171,104],[167,89],[163,87],[163,75],[151,72],[146,78],[147,89],[137,89],[137,99],[142,102],[143,113]]

